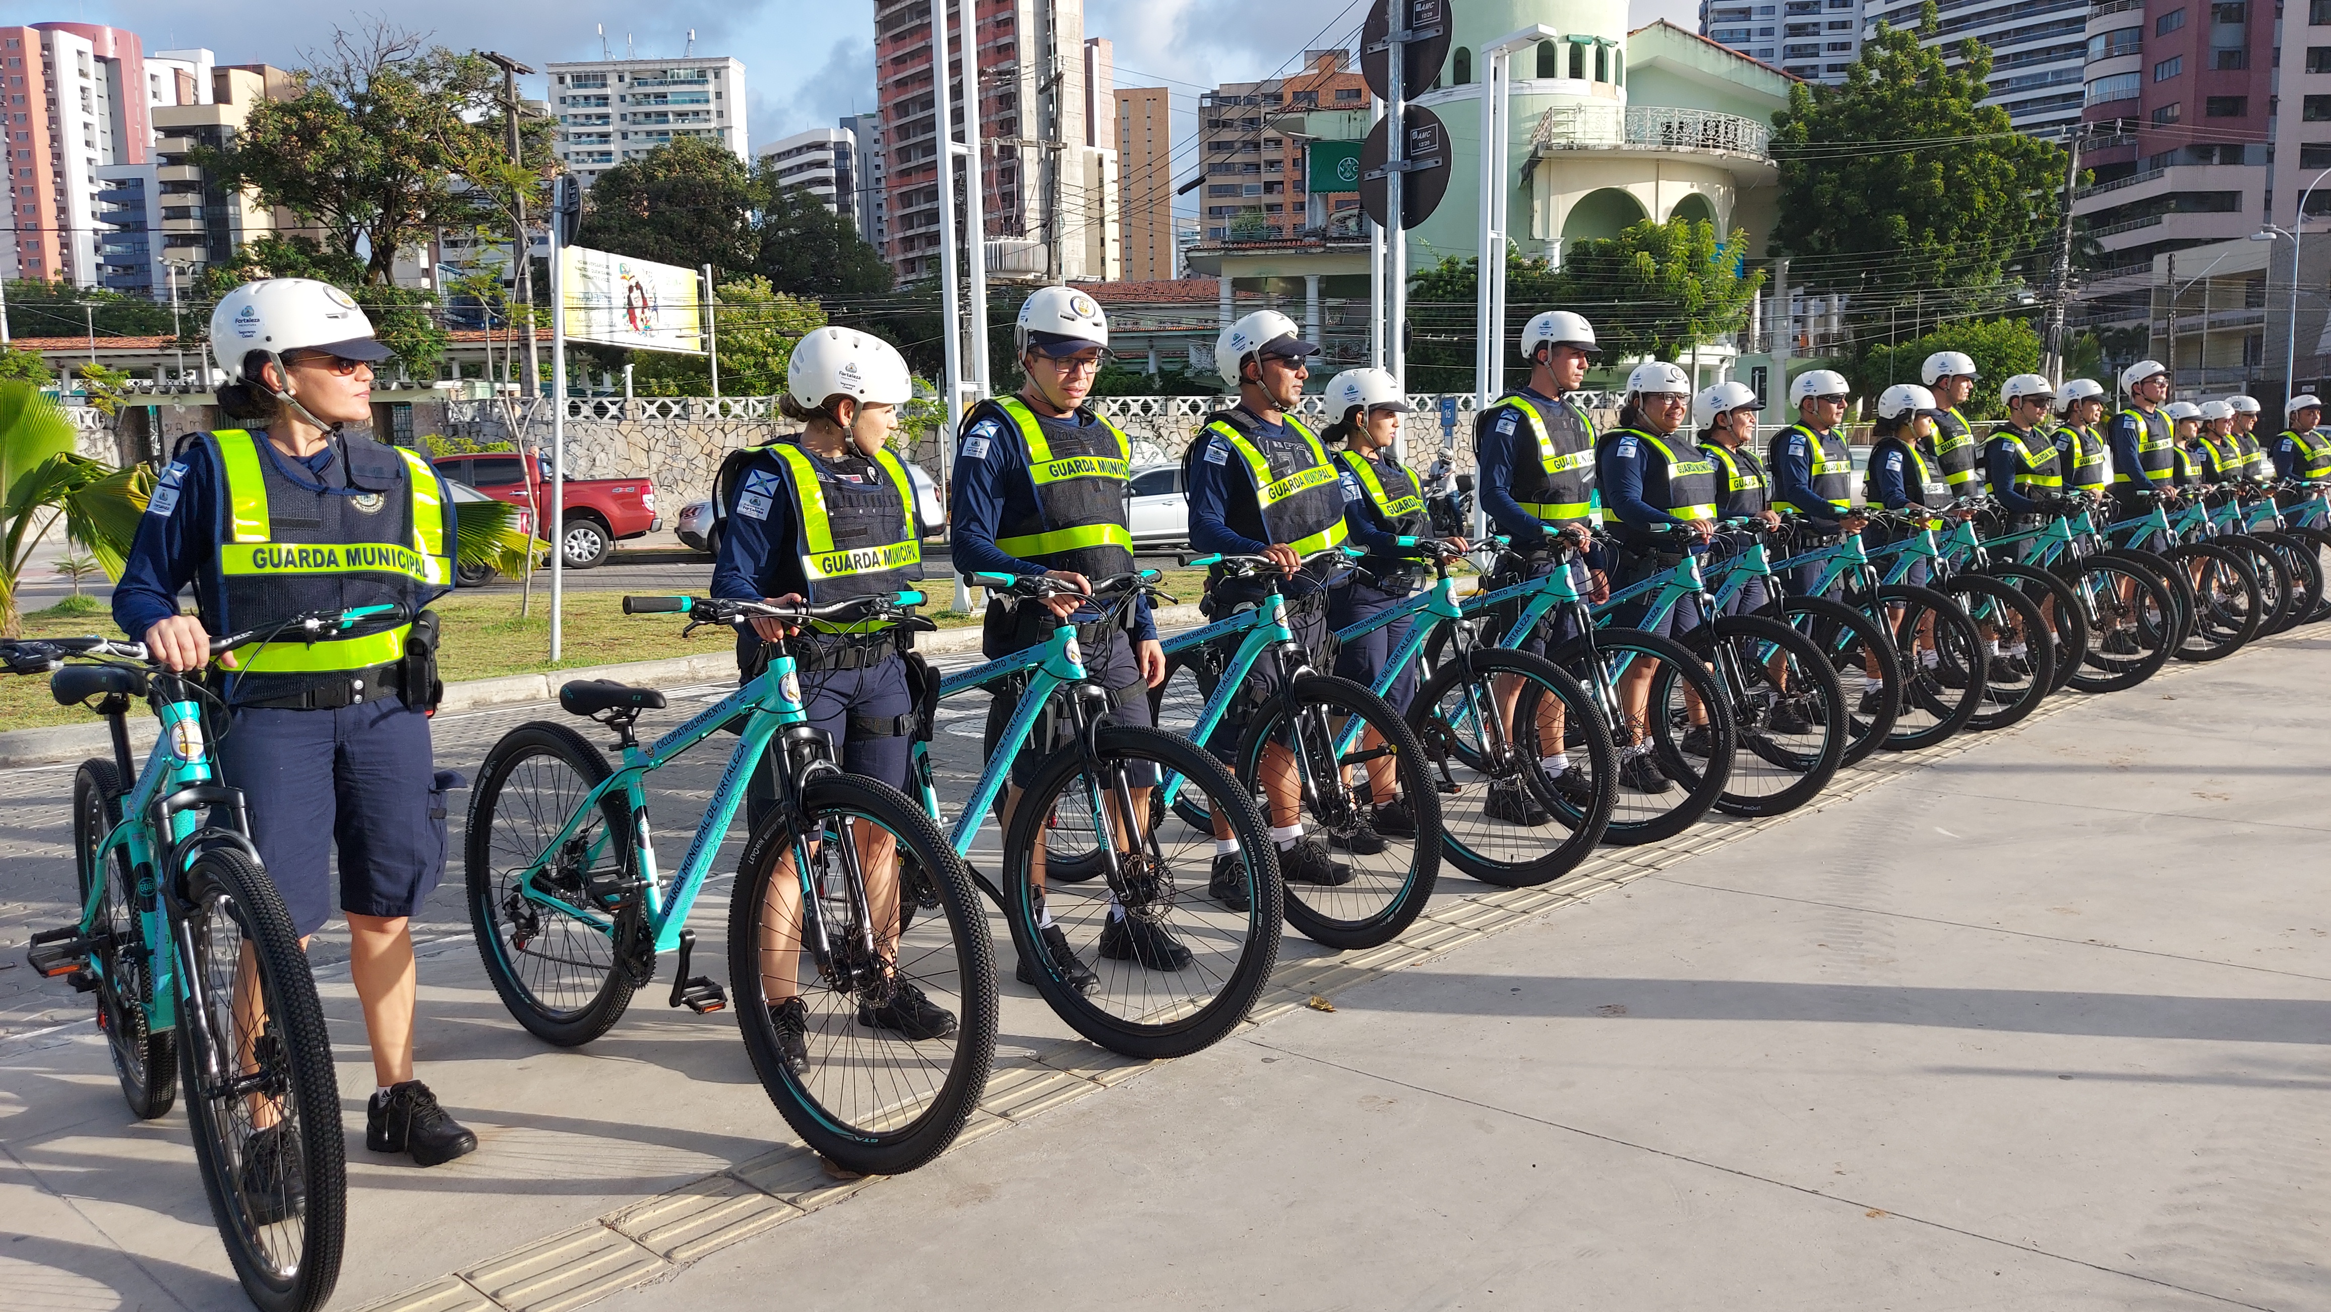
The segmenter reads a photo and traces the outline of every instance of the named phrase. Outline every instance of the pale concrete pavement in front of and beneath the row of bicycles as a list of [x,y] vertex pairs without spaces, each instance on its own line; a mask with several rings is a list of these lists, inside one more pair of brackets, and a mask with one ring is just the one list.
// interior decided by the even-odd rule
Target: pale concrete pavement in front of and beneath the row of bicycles
[[[2331,1307],[2331,706],[2287,694],[2326,659],[2061,701],[1550,893],[1445,876],[1406,951],[1289,934],[1296,993],[1170,1065],[1068,1042],[1000,937],[998,1084],[900,1179],[788,1147],[725,1014],[650,988],[590,1049],[527,1039],[455,872],[422,1060],[483,1149],[361,1149],[329,967],[336,1305]],[[182,1114],[131,1123],[93,1030],[0,1046],[0,1303],[245,1307]]]

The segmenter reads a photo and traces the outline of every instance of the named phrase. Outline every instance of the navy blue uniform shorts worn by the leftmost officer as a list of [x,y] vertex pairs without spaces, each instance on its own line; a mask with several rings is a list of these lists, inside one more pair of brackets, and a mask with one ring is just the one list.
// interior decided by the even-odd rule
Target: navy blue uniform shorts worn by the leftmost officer
[[224,783],[242,790],[252,846],[308,937],[340,909],[415,916],[445,874],[445,785],[429,715],[396,697],[338,711],[238,706],[217,741]]

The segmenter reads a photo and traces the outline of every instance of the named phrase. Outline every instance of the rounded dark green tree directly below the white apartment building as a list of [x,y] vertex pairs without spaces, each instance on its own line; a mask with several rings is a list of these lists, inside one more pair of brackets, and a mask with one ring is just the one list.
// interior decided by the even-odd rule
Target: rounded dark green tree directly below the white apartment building
[[709,263],[716,277],[741,277],[762,254],[758,200],[734,151],[711,137],[678,137],[590,184],[576,245],[681,268]]

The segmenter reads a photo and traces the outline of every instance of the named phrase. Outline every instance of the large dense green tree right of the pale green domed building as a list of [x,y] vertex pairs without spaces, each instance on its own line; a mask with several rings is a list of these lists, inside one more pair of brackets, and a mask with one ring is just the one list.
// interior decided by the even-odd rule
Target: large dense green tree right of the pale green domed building
[[1881,21],[1841,84],[1800,82],[1772,117],[1772,249],[1804,261],[1797,277],[1818,282],[1828,266],[1883,270],[1886,289],[1991,287],[2030,252],[2054,252],[2063,147],[2016,133],[2007,110],[1984,103],[1988,47],[1960,42],[1951,68],[1942,44],[1918,44],[1937,30],[1932,0],[1916,30]]

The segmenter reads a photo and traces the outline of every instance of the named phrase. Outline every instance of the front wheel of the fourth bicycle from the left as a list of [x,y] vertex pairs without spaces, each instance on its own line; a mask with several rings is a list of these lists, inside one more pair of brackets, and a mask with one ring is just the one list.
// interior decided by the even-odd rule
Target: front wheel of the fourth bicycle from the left
[[1366,687],[1310,673],[1247,720],[1238,781],[1273,825],[1301,820],[1329,860],[1280,862],[1287,923],[1331,948],[1401,937],[1441,874],[1441,795],[1408,722]]

